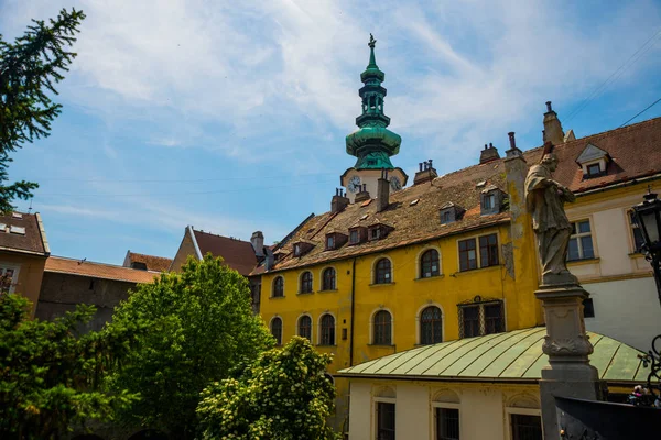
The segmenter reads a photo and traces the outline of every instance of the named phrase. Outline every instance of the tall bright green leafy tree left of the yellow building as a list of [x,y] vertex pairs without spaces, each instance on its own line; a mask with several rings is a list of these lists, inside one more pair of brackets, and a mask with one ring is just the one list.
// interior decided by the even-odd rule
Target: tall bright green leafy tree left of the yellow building
[[189,258],[181,274],[139,286],[111,326],[128,322],[150,330],[111,381],[116,389],[141,395],[126,420],[165,428],[177,439],[195,435],[195,408],[209,383],[274,343],[252,315],[246,278],[210,254]]

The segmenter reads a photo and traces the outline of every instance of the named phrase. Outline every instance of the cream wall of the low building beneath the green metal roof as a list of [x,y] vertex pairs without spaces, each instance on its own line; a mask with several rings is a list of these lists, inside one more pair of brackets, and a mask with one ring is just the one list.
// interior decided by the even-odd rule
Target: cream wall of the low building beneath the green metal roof
[[[435,439],[435,405],[459,409],[462,440],[509,440],[509,413],[539,415],[537,385],[452,384],[399,382],[383,384],[379,381],[351,380],[350,440],[376,440],[376,402],[378,392],[387,386],[395,397],[395,437],[398,439]],[[443,396],[454,395],[456,399]],[[441,396],[441,397],[440,397]],[[523,408],[523,409],[522,409]]]

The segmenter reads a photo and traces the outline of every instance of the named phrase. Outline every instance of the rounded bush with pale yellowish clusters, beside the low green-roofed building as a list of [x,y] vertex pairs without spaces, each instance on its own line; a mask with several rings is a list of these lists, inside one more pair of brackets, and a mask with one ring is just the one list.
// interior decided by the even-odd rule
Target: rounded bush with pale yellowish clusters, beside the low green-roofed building
[[299,337],[282,350],[263,353],[238,378],[202,393],[202,439],[338,439],[326,424],[335,398],[325,375],[329,363],[329,355]]

